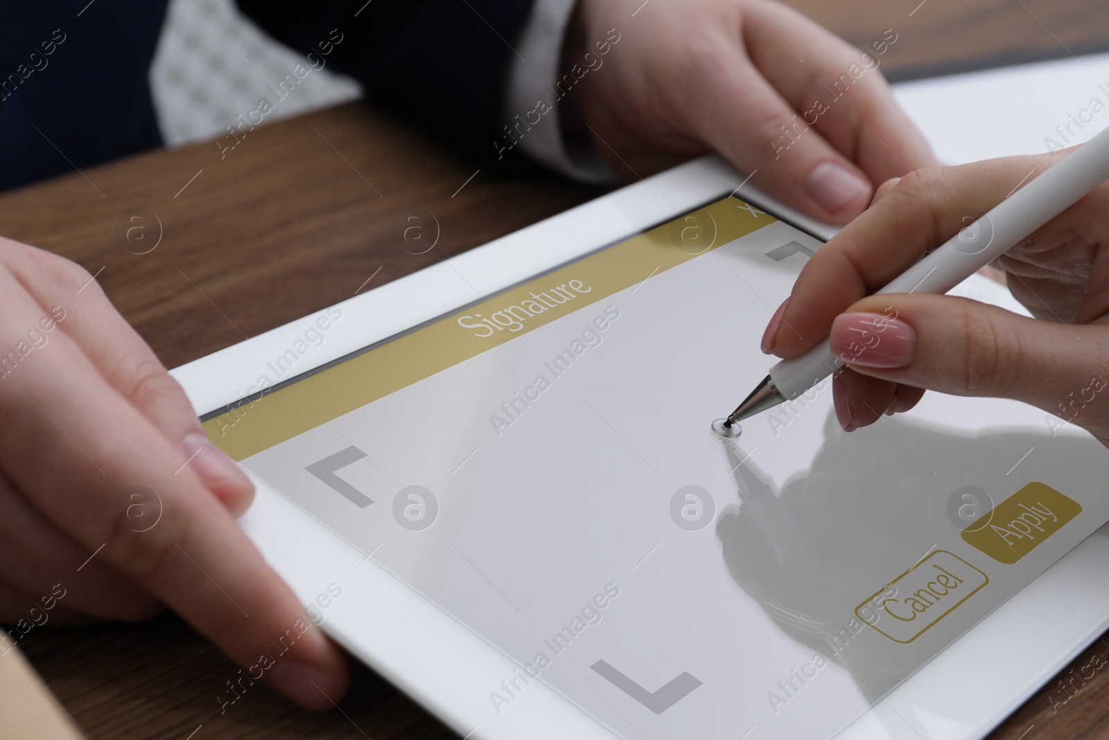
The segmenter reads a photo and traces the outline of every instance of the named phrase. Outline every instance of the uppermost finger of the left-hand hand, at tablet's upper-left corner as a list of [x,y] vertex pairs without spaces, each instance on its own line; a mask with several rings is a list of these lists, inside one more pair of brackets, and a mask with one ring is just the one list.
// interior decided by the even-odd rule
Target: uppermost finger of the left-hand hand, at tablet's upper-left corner
[[10,240],[0,239],[0,257],[43,308],[29,331],[45,343],[55,328],[69,334],[112,387],[181,446],[183,459],[207,488],[234,514],[245,511],[254,495],[250,479],[208,442],[181,386],[92,275],[68,260]]

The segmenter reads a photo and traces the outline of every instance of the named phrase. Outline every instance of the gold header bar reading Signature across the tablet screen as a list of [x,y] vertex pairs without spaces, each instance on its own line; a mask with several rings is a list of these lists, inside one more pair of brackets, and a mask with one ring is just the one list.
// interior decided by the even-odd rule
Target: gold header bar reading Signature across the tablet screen
[[725,197],[204,423],[242,460],[597,303],[775,219]]

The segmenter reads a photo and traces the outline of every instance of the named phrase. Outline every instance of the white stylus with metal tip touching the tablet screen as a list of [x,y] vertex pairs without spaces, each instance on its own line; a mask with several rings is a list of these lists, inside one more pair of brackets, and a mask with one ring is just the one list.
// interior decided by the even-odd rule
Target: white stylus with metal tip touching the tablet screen
[[[1010,194],[935,252],[894,278],[878,294],[946,293],[1077,203],[1107,179],[1109,129]],[[849,357],[833,355],[826,337],[805,354],[783,359],[770,368],[766,378],[722,422],[724,430],[733,430],[737,422],[793,401],[847,364]]]

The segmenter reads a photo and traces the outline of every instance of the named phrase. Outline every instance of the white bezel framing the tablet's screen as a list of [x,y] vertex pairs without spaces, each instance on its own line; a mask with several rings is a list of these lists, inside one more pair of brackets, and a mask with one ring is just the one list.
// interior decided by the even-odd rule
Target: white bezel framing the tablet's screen
[[[775,202],[708,155],[336,304],[343,321],[297,369],[333,363],[730,193],[822,239],[836,231]],[[267,359],[301,338],[317,315],[171,374],[197,415],[207,416],[248,396]],[[511,675],[513,661],[377,566],[372,554],[358,551],[261,480],[255,485],[258,494],[241,524],[269,564],[305,604],[328,584],[339,585],[344,596],[324,615],[324,629],[462,737],[617,737],[538,681],[509,709],[495,712],[488,692]],[[1102,528],[841,737],[983,737],[1109,626],[1109,569],[1098,568],[1107,559],[1109,529]],[[1036,628],[1037,642],[1011,649]],[[937,717],[926,709],[937,706],[949,711]]]

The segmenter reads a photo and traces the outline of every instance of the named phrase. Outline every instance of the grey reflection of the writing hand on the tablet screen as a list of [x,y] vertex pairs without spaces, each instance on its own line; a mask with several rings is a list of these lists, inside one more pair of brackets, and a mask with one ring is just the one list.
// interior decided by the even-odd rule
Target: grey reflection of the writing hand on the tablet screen
[[[1030,481],[1034,468],[1007,470],[1032,447],[1049,456],[1041,459],[1051,459],[1054,469],[1060,460],[1079,464],[1100,455],[1097,443],[1085,437],[1047,432],[974,436],[910,417],[884,422],[846,434],[830,414],[812,466],[784,484],[759,468],[757,455],[747,457],[742,438],[718,440],[739,496],[716,521],[732,578],[791,638],[848,670],[871,701],[984,616],[983,600],[969,609],[960,606],[959,618],[944,629],[901,643],[855,612],[935,549],[950,549],[986,570],[998,565],[958,538],[962,523],[948,515],[954,491],[976,486],[993,504],[1000,503]],[[985,510],[990,506],[987,500]],[[1025,582],[1036,576],[1027,570]],[[881,610],[864,616],[875,614],[878,628],[882,619],[891,619]],[[818,676],[811,680],[818,682]],[[943,708],[932,709],[943,713]]]

